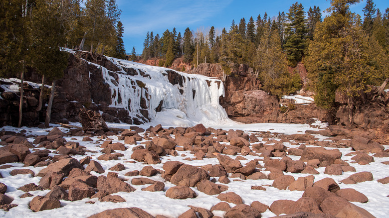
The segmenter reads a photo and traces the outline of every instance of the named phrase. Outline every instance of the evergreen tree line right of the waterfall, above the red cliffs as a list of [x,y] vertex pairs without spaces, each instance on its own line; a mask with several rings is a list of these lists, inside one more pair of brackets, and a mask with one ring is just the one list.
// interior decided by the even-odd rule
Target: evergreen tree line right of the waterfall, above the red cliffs
[[175,57],[197,66],[219,63],[226,75],[236,75],[240,64],[253,69],[261,89],[281,97],[301,88],[297,73],[289,67],[302,62],[309,73],[309,86],[322,108],[335,107],[335,92],[350,101],[369,85],[379,85],[389,76],[389,8],[382,13],[367,0],[364,18],[350,10],[360,0],[331,0],[322,17],[318,6],[307,11],[293,3],[288,12],[271,19],[265,12],[221,31],[187,28],[182,36],[166,30],[162,36],[147,33],[142,57],[161,58],[171,66]]

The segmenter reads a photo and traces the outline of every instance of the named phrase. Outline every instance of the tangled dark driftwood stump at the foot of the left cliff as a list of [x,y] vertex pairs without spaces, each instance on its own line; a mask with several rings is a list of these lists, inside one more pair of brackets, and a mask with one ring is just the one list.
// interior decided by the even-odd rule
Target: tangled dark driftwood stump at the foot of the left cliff
[[81,109],[80,116],[83,131],[109,131],[107,124],[105,123],[103,117],[101,117],[99,112]]

